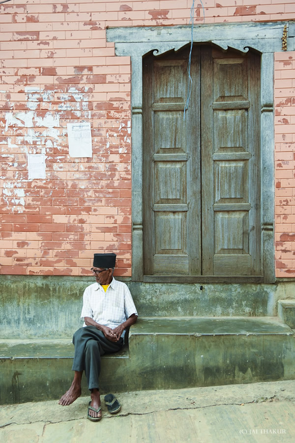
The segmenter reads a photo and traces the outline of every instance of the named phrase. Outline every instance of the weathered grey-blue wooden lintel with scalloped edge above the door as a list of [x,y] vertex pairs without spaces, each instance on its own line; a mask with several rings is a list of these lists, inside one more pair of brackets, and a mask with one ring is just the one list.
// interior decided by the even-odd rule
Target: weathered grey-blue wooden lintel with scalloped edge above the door
[[[287,50],[293,51],[295,49],[294,22],[195,25],[193,41],[212,42],[224,50],[233,48],[247,52],[249,48],[253,48],[261,53],[280,52],[282,51],[281,37],[286,24]],[[154,55],[160,55],[171,49],[178,51],[189,44],[191,27],[109,28],[107,40],[115,41],[118,56],[143,56],[150,51],[154,51]]]

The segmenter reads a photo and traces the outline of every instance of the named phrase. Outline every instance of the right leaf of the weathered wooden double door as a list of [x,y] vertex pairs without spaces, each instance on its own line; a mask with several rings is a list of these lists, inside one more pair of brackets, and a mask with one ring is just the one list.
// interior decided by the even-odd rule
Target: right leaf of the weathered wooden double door
[[260,85],[249,74],[259,59],[209,47],[203,55],[203,275],[260,275],[260,133],[251,126],[259,121]]

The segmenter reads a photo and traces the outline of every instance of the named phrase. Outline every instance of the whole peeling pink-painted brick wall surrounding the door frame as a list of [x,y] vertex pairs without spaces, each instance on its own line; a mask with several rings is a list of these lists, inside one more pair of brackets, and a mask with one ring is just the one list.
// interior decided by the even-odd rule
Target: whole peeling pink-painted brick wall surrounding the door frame
[[[114,251],[117,275],[131,275],[130,59],[115,57],[105,29],[186,25],[191,4],[191,0],[12,0],[0,4],[2,274],[89,275],[94,252]],[[261,0],[259,4],[203,0],[203,4],[207,24],[288,20],[295,14],[294,2],[289,0]],[[203,8],[200,2],[195,5],[195,23],[202,23]],[[279,66],[277,75],[288,69],[291,73],[291,77],[276,79],[281,82],[277,94],[285,82],[290,85],[284,87],[289,93],[282,95],[282,100],[290,102],[278,105],[282,115],[287,115],[283,112],[292,108],[295,76],[290,65],[287,69]],[[279,121],[279,115],[276,118],[276,149],[286,154],[282,162],[289,161],[292,167],[288,143],[294,141],[290,132],[294,117],[284,117],[289,119],[284,140],[279,134],[287,124]],[[93,158],[68,155],[66,124],[78,121],[91,124]],[[46,180],[29,180],[28,153],[46,155]],[[277,198],[292,199],[295,184],[285,163],[278,166],[278,173],[282,172],[290,184],[282,182],[277,192],[288,189],[291,194],[277,193]],[[278,208],[288,205],[279,200],[277,204]],[[286,209],[291,207],[292,200]],[[277,213],[277,235],[292,232],[292,219],[283,219],[289,212],[282,214]],[[288,242],[292,254],[292,241]],[[279,260],[285,263],[287,256],[278,248],[281,275]],[[294,266],[292,257],[288,260],[289,270]]]

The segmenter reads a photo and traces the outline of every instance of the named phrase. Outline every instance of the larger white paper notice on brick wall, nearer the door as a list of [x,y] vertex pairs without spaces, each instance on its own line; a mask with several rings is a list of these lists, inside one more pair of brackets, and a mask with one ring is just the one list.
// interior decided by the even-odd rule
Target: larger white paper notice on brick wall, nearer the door
[[70,157],[92,157],[90,123],[68,123]]

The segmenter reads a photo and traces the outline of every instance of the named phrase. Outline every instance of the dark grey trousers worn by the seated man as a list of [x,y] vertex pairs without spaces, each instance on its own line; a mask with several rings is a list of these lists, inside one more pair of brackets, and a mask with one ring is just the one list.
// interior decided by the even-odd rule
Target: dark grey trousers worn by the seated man
[[104,353],[117,352],[122,348],[123,343],[122,338],[118,342],[111,342],[95,326],[86,326],[75,332],[72,370],[85,371],[89,390],[99,389],[100,356]]

